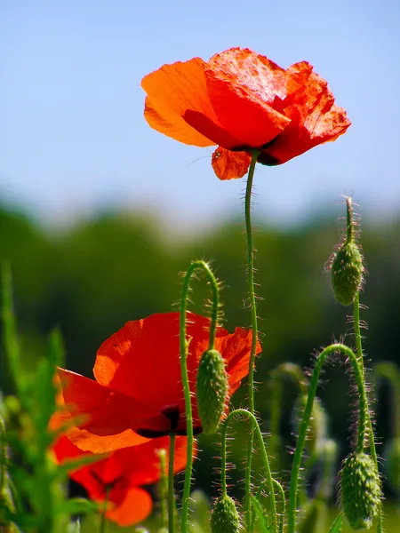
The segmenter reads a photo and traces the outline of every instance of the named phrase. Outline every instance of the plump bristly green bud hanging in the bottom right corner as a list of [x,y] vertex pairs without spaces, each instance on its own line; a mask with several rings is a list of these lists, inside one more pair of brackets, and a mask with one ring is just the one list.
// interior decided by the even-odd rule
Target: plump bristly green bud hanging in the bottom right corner
[[341,505],[353,529],[369,529],[380,509],[380,475],[372,457],[353,452],[340,473]]

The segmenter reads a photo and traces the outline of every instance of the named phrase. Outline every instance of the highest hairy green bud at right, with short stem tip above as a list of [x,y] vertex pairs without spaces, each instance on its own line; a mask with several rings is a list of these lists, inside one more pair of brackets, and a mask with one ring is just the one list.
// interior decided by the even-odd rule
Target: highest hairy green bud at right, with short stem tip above
[[331,281],[336,299],[343,306],[349,306],[363,284],[363,256],[355,240],[353,206],[347,201],[348,231],[346,241],[332,256]]

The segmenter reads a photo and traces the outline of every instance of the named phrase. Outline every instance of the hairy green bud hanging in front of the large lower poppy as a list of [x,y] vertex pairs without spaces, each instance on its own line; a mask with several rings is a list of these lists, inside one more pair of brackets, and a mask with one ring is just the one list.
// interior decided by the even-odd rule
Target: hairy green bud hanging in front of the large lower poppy
[[202,355],[197,371],[197,409],[204,434],[214,434],[222,418],[228,396],[228,373],[217,350]]

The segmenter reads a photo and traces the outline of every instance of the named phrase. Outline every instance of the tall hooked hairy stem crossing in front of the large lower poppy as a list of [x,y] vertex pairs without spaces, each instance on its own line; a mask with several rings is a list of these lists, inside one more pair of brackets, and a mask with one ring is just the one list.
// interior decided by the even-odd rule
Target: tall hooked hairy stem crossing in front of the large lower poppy
[[202,270],[208,277],[212,285],[212,317],[210,323],[210,340],[209,349],[213,349],[215,344],[215,334],[217,331],[218,320],[218,306],[219,306],[219,289],[218,282],[212,274],[211,268],[202,260],[193,261],[188,267],[188,272],[183,280],[182,296],[180,299],[180,376],[182,379],[183,394],[185,398],[185,417],[188,434],[187,444],[187,462],[185,470],[185,482],[183,486],[182,496],[182,512],[181,512],[181,533],[188,532],[188,507],[190,498],[190,485],[192,482],[192,462],[193,462],[193,418],[192,418],[192,403],[190,394],[190,385],[188,380],[188,345],[190,339],[186,338],[186,314],[188,311],[188,290],[192,275],[196,270]]

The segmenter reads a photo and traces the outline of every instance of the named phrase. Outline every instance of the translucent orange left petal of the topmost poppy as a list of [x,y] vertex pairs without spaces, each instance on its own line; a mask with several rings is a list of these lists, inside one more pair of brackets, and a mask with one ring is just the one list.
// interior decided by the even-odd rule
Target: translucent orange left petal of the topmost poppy
[[145,76],[141,86],[148,93],[145,118],[152,128],[196,147],[217,144],[184,119],[186,111],[190,109],[218,123],[207,94],[204,60],[194,58],[164,65]]

